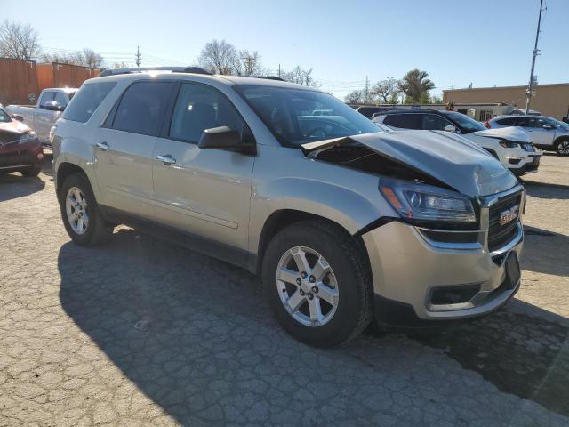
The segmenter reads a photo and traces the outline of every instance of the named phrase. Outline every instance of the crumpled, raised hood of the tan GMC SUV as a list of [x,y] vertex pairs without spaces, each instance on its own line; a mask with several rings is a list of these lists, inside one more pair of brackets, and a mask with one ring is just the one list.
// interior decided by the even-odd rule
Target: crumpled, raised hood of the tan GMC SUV
[[[353,135],[348,139],[426,173],[469,197],[487,196],[517,185],[516,177],[485,149],[454,133],[396,131]],[[308,153],[345,140],[313,142],[304,144],[302,149]]]

